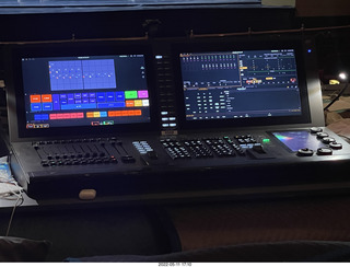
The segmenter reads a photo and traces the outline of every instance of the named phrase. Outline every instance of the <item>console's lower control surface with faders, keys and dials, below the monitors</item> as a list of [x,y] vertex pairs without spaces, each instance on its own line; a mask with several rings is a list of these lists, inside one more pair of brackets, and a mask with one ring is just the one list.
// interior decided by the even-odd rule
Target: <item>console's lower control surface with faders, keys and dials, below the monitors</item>
[[[341,181],[350,147],[328,129],[317,130],[322,131],[252,130],[15,143],[16,154],[24,160],[21,169],[13,163],[13,171],[31,181],[30,196],[77,195],[85,188],[133,195]],[[30,170],[27,177],[21,170]]]

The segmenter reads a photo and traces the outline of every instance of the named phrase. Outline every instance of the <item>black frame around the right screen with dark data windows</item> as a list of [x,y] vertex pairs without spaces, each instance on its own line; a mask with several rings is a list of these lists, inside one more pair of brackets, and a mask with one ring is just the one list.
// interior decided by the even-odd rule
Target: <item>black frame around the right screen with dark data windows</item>
[[[277,50],[294,49],[298,66],[298,79],[301,94],[301,115],[276,116],[276,117],[248,117],[248,118],[225,118],[225,119],[201,119],[187,120],[185,112],[185,100],[183,89],[183,78],[180,69],[180,54],[186,53],[214,53],[214,51],[241,51],[241,50]],[[304,48],[301,39],[222,39],[221,42],[194,40],[173,45],[172,48],[175,86],[178,103],[178,125],[182,130],[195,129],[220,129],[220,128],[241,128],[277,125],[303,125],[312,123],[312,114],[308,100],[307,78],[304,61]]]

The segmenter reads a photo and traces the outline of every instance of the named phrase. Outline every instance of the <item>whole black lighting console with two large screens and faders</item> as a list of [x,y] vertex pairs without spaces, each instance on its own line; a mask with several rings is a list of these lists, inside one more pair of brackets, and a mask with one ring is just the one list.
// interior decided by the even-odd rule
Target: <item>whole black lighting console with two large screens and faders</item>
[[36,198],[346,181],[350,147],[324,127],[311,43],[260,38],[13,47],[16,179]]

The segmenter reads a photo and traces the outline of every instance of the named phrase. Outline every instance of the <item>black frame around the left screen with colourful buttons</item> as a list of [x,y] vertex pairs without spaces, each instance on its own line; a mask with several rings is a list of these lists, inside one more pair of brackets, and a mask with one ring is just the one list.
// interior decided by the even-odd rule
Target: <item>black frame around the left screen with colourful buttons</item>
[[[140,132],[159,130],[158,105],[152,66],[152,48],[148,44],[127,43],[77,43],[77,44],[49,44],[49,45],[25,45],[14,47],[12,55],[11,84],[12,98],[15,103],[15,112],[12,111],[10,126],[19,139],[21,138],[69,138],[73,136],[110,136],[122,132]],[[106,126],[74,126],[52,127],[46,129],[27,129],[25,116],[25,100],[22,79],[22,58],[55,58],[55,57],[84,57],[84,56],[117,56],[117,55],[143,55],[145,63],[145,77],[150,101],[150,121],[135,124],[115,124]],[[11,94],[10,93],[10,94]],[[11,123],[11,121],[10,121]],[[15,129],[14,129],[15,128]],[[12,135],[13,136],[13,135]],[[15,138],[15,137],[14,137]]]

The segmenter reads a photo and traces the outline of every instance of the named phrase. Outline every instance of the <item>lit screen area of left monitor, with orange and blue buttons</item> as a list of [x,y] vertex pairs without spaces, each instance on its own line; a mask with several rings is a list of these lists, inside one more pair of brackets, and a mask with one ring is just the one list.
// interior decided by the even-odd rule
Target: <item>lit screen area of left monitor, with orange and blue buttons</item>
[[143,55],[22,58],[26,129],[150,123]]

